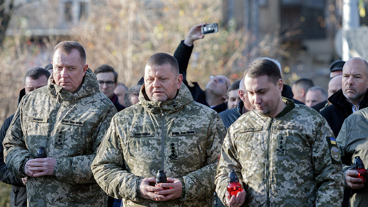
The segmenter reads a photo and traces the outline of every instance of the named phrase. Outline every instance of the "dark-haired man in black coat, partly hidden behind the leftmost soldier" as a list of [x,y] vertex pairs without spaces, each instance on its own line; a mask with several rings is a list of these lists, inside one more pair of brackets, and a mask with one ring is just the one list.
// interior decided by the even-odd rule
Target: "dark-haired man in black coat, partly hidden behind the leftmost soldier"
[[[50,72],[41,67],[35,67],[29,70],[25,77],[25,88],[21,89],[19,92],[18,103],[26,94],[47,85],[49,77]],[[27,206],[27,193],[26,187],[24,186],[26,179],[15,177],[11,172],[9,172],[4,162],[3,141],[13,117],[14,114],[8,117],[0,129],[0,181],[12,185],[10,192],[10,207]]]

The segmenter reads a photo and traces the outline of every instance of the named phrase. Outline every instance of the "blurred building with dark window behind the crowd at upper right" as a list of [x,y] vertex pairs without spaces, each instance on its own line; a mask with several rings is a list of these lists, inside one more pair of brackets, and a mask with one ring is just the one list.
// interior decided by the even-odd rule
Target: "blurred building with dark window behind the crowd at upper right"
[[223,0],[222,11],[223,26],[250,31],[254,47],[266,35],[279,35],[287,53],[272,58],[281,62],[286,82],[311,78],[327,88],[329,64],[341,58],[335,34],[342,0]]

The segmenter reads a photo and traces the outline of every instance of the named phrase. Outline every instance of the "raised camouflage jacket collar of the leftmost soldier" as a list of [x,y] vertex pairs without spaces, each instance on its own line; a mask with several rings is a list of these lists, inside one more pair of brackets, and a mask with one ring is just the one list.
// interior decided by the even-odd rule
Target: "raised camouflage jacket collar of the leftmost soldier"
[[100,87],[97,83],[96,75],[88,68],[81,85],[78,87],[75,93],[70,93],[63,87],[56,85],[54,77],[50,76],[48,81],[49,93],[53,97],[60,97],[64,101],[72,102],[90,94],[100,91]]

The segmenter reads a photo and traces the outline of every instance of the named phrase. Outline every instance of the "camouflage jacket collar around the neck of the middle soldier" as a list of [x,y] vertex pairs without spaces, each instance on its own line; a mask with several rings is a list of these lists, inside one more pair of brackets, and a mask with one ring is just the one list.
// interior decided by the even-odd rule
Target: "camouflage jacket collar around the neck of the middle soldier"
[[146,95],[145,85],[143,85],[140,91],[139,100],[146,111],[155,114],[159,114],[162,111],[173,113],[182,106],[194,101],[192,94],[185,84],[181,84],[176,97],[169,101],[150,101]]

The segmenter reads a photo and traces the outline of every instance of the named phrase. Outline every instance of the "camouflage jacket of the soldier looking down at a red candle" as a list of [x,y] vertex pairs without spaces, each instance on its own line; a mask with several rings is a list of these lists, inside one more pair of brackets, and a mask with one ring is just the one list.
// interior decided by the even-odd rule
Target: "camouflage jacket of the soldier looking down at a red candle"
[[341,206],[341,160],[330,127],[314,109],[283,101],[275,118],[252,110],[229,127],[215,180],[219,198],[225,202],[234,169],[243,206]]

